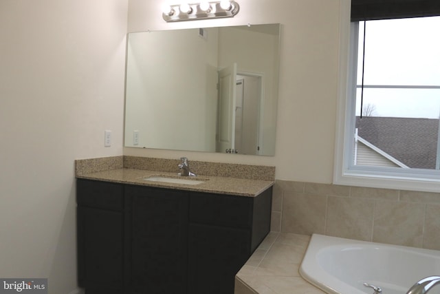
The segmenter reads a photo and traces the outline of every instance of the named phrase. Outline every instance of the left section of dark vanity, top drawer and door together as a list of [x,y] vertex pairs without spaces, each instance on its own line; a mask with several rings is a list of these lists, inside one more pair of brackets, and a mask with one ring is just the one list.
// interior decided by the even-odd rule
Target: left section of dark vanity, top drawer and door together
[[124,188],[78,180],[78,284],[90,293],[123,293]]

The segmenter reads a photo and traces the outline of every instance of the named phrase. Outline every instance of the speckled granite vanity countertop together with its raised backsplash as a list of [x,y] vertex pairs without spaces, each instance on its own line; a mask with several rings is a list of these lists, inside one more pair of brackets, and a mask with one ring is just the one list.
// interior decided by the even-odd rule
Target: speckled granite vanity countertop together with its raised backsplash
[[[261,169],[265,170],[267,167],[262,167],[261,169],[258,166],[246,166],[246,165],[236,165],[239,166],[239,170],[241,171],[239,176],[243,176],[243,178],[236,178],[231,176],[213,176],[213,172],[210,170],[215,170],[217,173],[224,173],[219,166],[222,164],[213,163],[215,169],[209,168],[209,163],[204,170],[206,170],[206,174],[208,175],[200,175],[197,177],[179,177],[177,176],[177,171],[171,172],[166,171],[166,169],[170,169],[170,167],[176,170],[178,160],[173,160],[169,162],[164,162],[163,159],[154,160],[149,158],[148,165],[134,165],[130,162],[141,162],[144,158],[140,160],[135,160],[137,158],[102,158],[102,160],[107,160],[111,162],[109,168],[102,162],[100,159],[91,159],[91,160],[76,160],[76,178],[85,178],[89,180],[102,180],[106,182],[120,182],[123,184],[130,185],[143,185],[149,187],[162,187],[168,189],[179,189],[186,191],[199,191],[199,192],[207,192],[207,193],[219,193],[219,194],[228,194],[235,196],[248,196],[254,197],[259,195],[259,193],[265,191],[265,189],[274,185],[274,180],[261,179],[261,176],[255,176],[254,171],[260,171]],[[121,162],[119,163],[119,160]],[[117,163],[115,163],[117,162]],[[127,164],[129,162],[129,164]],[[159,162],[160,167],[157,164],[153,164],[151,162]],[[201,169],[201,167],[205,167],[206,164],[202,164],[201,162],[194,162],[194,166],[197,171],[197,167]],[[126,167],[128,165],[129,167]],[[167,166],[170,167],[167,167]],[[229,168],[230,165],[228,165]],[[233,165],[232,165],[233,166]],[[135,167],[135,168],[130,168]],[[152,170],[148,169],[151,168]],[[162,171],[161,169],[165,169]],[[237,168],[235,168],[237,169]],[[272,171],[272,168],[269,169]],[[223,174],[222,174],[223,175]],[[185,184],[177,184],[171,182],[153,182],[145,180],[145,178],[149,178],[152,176],[165,176],[169,178],[185,178],[188,180],[203,180],[203,183],[198,185],[185,185]],[[272,177],[272,175],[265,176],[268,179]]]

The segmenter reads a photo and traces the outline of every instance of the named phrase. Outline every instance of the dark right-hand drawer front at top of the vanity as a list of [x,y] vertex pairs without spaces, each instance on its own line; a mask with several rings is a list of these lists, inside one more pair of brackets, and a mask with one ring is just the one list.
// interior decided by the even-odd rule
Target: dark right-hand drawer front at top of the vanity
[[248,229],[252,225],[251,197],[190,194],[190,222]]

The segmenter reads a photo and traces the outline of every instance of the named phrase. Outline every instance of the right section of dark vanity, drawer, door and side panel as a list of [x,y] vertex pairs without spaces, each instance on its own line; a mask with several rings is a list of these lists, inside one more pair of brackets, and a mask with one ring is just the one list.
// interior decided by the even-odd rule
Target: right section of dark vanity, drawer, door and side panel
[[234,277],[270,231],[272,189],[257,197],[191,193],[188,293],[234,293]]

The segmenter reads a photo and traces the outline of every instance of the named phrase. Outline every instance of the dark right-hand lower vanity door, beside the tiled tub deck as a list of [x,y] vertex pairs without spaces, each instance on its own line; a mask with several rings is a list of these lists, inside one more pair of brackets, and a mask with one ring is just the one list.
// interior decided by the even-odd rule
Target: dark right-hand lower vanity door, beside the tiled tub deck
[[233,294],[250,256],[250,231],[190,224],[188,238],[188,293]]

